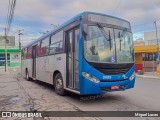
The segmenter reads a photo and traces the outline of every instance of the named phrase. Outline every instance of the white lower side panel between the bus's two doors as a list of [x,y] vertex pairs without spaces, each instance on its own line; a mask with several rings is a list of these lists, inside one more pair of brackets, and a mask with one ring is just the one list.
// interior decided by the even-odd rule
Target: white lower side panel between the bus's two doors
[[40,81],[53,84],[53,73],[58,70],[65,84],[66,54],[55,54],[36,58],[36,78]]

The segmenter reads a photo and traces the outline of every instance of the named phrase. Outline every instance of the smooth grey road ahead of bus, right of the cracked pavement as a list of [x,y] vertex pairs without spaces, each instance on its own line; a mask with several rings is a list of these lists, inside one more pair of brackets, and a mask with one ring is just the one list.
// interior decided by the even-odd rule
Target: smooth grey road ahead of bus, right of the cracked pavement
[[79,102],[74,96],[66,98],[82,110],[160,110],[160,79],[137,77],[134,89],[107,93],[96,100],[82,97],[80,100],[84,101]]

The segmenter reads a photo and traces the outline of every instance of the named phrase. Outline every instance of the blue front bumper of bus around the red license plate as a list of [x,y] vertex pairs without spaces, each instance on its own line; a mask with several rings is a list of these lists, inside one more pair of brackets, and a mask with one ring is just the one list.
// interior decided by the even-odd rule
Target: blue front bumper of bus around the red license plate
[[[130,80],[122,80],[115,82],[99,82],[93,83],[92,81],[83,78],[83,85],[80,94],[102,94],[103,92],[124,91],[134,87],[135,78]],[[117,90],[111,90],[112,86],[120,86]]]

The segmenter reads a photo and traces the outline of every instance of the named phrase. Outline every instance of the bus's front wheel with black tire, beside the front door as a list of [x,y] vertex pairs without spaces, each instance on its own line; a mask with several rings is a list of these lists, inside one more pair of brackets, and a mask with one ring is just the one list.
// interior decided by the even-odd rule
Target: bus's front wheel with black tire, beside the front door
[[60,73],[56,74],[54,78],[54,87],[55,87],[55,92],[58,95],[61,95],[61,96],[65,95],[65,90],[63,87],[63,78]]

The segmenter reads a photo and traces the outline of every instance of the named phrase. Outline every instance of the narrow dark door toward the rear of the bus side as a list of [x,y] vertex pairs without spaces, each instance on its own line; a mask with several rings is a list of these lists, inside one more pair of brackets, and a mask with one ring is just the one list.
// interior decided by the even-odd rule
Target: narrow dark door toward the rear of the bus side
[[32,47],[32,77],[36,78],[36,45]]

